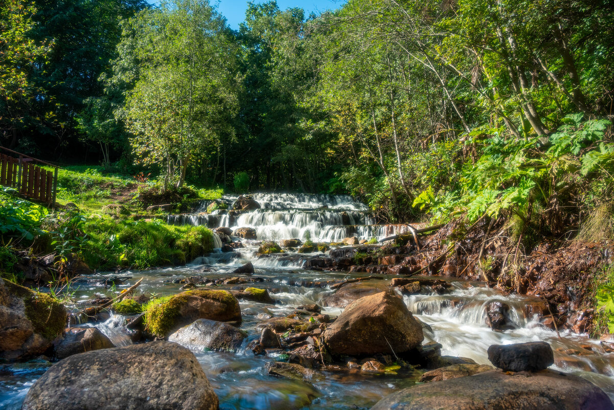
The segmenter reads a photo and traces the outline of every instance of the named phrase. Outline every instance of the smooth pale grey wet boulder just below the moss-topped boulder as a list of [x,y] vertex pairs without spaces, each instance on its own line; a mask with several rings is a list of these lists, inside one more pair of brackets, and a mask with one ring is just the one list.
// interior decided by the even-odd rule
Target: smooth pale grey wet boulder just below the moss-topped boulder
[[184,326],[168,337],[191,350],[222,350],[236,352],[241,347],[247,333],[222,321],[198,319]]

